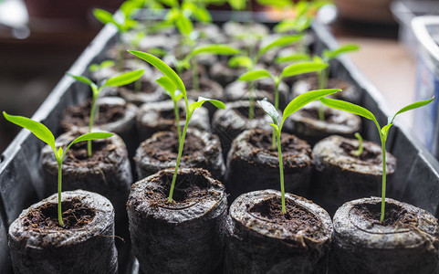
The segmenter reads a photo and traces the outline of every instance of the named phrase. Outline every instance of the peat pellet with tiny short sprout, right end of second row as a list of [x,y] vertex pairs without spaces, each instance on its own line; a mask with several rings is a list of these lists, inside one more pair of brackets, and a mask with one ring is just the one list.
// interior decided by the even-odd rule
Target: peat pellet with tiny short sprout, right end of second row
[[[359,141],[338,135],[318,142],[312,152],[316,169],[311,198],[330,216],[345,202],[382,193],[382,147],[363,141],[363,153],[356,156]],[[387,190],[392,192],[396,158],[386,153]]]

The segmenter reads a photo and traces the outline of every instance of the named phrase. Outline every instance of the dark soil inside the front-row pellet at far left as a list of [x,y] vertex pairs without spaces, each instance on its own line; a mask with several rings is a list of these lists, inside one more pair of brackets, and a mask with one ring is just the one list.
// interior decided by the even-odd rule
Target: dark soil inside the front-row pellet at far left
[[25,216],[25,230],[31,229],[44,233],[49,230],[78,229],[89,224],[95,216],[94,210],[83,205],[79,199],[63,202],[61,208],[65,227],[59,226],[57,204],[48,203],[37,209],[29,210]]

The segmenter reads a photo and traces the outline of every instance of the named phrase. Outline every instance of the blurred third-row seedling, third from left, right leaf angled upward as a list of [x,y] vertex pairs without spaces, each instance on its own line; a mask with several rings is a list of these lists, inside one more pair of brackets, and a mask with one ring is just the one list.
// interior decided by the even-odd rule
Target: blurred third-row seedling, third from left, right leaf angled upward
[[[273,42],[269,43],[265,47],[261,47],[257,52],[256,55],[251,58],[249,56],[239,55],[235,56],[233,58],[230,58],[228,65],[231,68],[246,68],[247,72],[253,73],[257,62],[259,59],[266,54],[269,50],[279,48],[279,47],[287,47],[293,43],[298,42],[301,40],[303,36],[299,35],[291,35],[291,36],[284,36],[284,37],[278,37]],[[257,73],[256,73],[257,74]],[[269,74],[269,73],[268,73]],[[270,77],[270,76],[268,76]],[[253,98],[253,91],[254,91],[254,80],[249,81],[248,85],[248,99],[250,101],[250,107],[248,109],[248,119],[252,120],[255,117],[255,102]]]

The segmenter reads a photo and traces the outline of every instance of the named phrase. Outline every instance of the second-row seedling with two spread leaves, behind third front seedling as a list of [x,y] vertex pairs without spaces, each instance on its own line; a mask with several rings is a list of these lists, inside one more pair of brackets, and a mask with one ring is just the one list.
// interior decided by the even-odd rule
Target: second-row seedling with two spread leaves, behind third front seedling
[[[319,71],[321,69],[327,68],[328,65],[319,62],[301,62],[296,64],[291,64],[286,68],[282,69],[280,75],[276,76],[271,74],[267,69],[255,69],[250,70],[241,75],[238,80],[241,81],[255,81],[256,79],[265,79],[269,78],[275,82],[275,109],[279,110],[279,84],[285,77],[291,77],[303,73]],[[275,131],[273,131],[273,149],[276,148],[276,135]]]

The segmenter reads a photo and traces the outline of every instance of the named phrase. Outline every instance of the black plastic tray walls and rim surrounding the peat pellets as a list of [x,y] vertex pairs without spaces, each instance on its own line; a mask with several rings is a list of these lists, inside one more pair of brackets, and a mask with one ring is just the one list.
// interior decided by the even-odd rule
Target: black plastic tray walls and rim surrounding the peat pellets
[[[229,13],[227,13],[229,14]],[[218,22],[227,19],[225,13],[214,13]],[[242,17],[242,16],[237,16]],[[267,22],[263,16],[256,19]],[[269,24],[269,22],[267,22]],[[311,33],[316,52],[338,47],[326,26],[313,24]],[[75,75],[89,76],[89,64],[103,60],[106,48],[116,43],[116,29],[105,26],[68,70]],[[361,105],[376,114],[381,124],[391,113],[381,93],[364,78],[346,57],[333,60],[331,73],[352,83],[361,92]],[[59,121],[68,106],[76,105],[89,97],[88,86],[63,77],[37,110],[33,119],[41,121],[52,132],[59,131]],[[18,114],[18,113],[14,113]],[[375,125],[362,122],[365,139],[380,142]],[[0,272],[12,272],[7,248],[7,228],[29,205],[44,198],[42,193],[41,148],[44,143],[32,133],[21,131],[0,157]],[[392,178],[395,187],[388,196],[419,206],[438,216],[439,163],[428,153],[412,132],[396,121],[387,144],[388,150],[398,159],[397,173]]]

